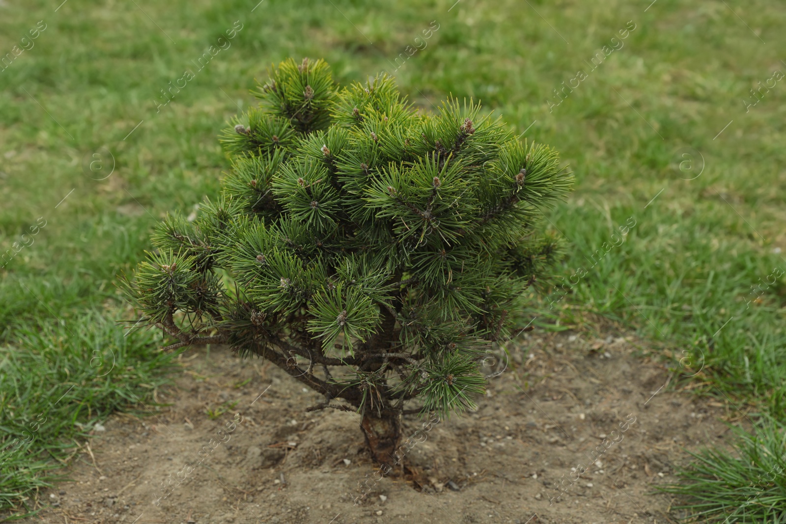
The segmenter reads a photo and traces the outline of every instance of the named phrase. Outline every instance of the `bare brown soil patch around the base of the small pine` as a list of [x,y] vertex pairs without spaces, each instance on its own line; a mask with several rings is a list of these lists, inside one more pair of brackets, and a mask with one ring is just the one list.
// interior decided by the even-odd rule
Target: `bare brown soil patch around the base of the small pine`
[[733,410],[664,387],[630,337],[586,338],[531,334],[476,412],[428,431],[406,418],[421,489],[376,480],[356,413],[304,412],[321,398],[277,368],[191,350],[159,394],[171,406],[112,416],[29,522],[671,522],[670,500],[648,493],[683,449],[723,442]]

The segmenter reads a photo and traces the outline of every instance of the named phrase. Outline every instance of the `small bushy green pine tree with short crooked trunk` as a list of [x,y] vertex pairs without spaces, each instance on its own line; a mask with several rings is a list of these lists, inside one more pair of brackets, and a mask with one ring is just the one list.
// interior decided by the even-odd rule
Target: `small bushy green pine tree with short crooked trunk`
[[126,291],[165,350],[263,357],[324,395],[310,410],[357,409],[395,464],[405,401],[445,415],[483,393],[479,361],[560,256],[535,225],[571,174],[479,104],[423,114],[385,75],[339,90],[289,59],[252,93],[220,137],[222,194],[160,224]]

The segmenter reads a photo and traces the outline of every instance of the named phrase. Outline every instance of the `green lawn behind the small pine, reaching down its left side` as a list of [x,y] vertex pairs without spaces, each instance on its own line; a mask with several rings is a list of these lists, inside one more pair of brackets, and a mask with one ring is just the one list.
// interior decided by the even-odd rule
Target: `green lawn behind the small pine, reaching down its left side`
[[[119,340],[112,321],[130,311],[116,276],[149,247],[157,219],[218,192],[226,162],[216,135],[253,103],[252,79],[290,56],[324,57],[342,83],[395,70],[424,110],[449,93],[480,98],[518,132],[558,148],[577,188],[546,225],[567,239],[568,284],[543,302],[536,324],[582,324],[586,312],[619,319],[664,354],[691,352],[707,392],[786,418],[786,280],[773,277],[786,271],[777,252],[786,250],[786,85],[769,80],[749,105],[751,89],[786,70],[777,2],[57,4],[0,5],[0,57],[30,47],[22,38],[46,25],[0,71],[0,256],[18,250],[0,269],[6,448],[53,409],[0,466],[9,482],[2,507],[30,497],[84,428],[133,401],[123,385],[141,398],[151,391],[142,384],[163,380],[167,359],[152,335]],[[236,20],[243,27],[231,46],[196,66]],[[629,21],[635,28],[612,41]],[[588,64],[603,46],[619,49]],[[413,47],[422,49],[410,56]],[[157,107],[186,69],[194,78]],[[576,86],[579,69],[586,79]],[[562,82],[576,87],[549,110]],[[693,163],[680,170],[684,160]],[[624,243],[605,248],[630,217]],[[39,218],[46,225],[31,236]],[[586,275],[571,280],[580,268]],[[134,372],[91,378],[91,347],[126,348],[123,366]],[[27,400],[68,380],[79,383],[58,405],[79,405],[77,419]],[[718,460],[718,475],[733,471],[719,465],[728,457]],[[685,493],[701,500],[708,485],[694,486]]]

